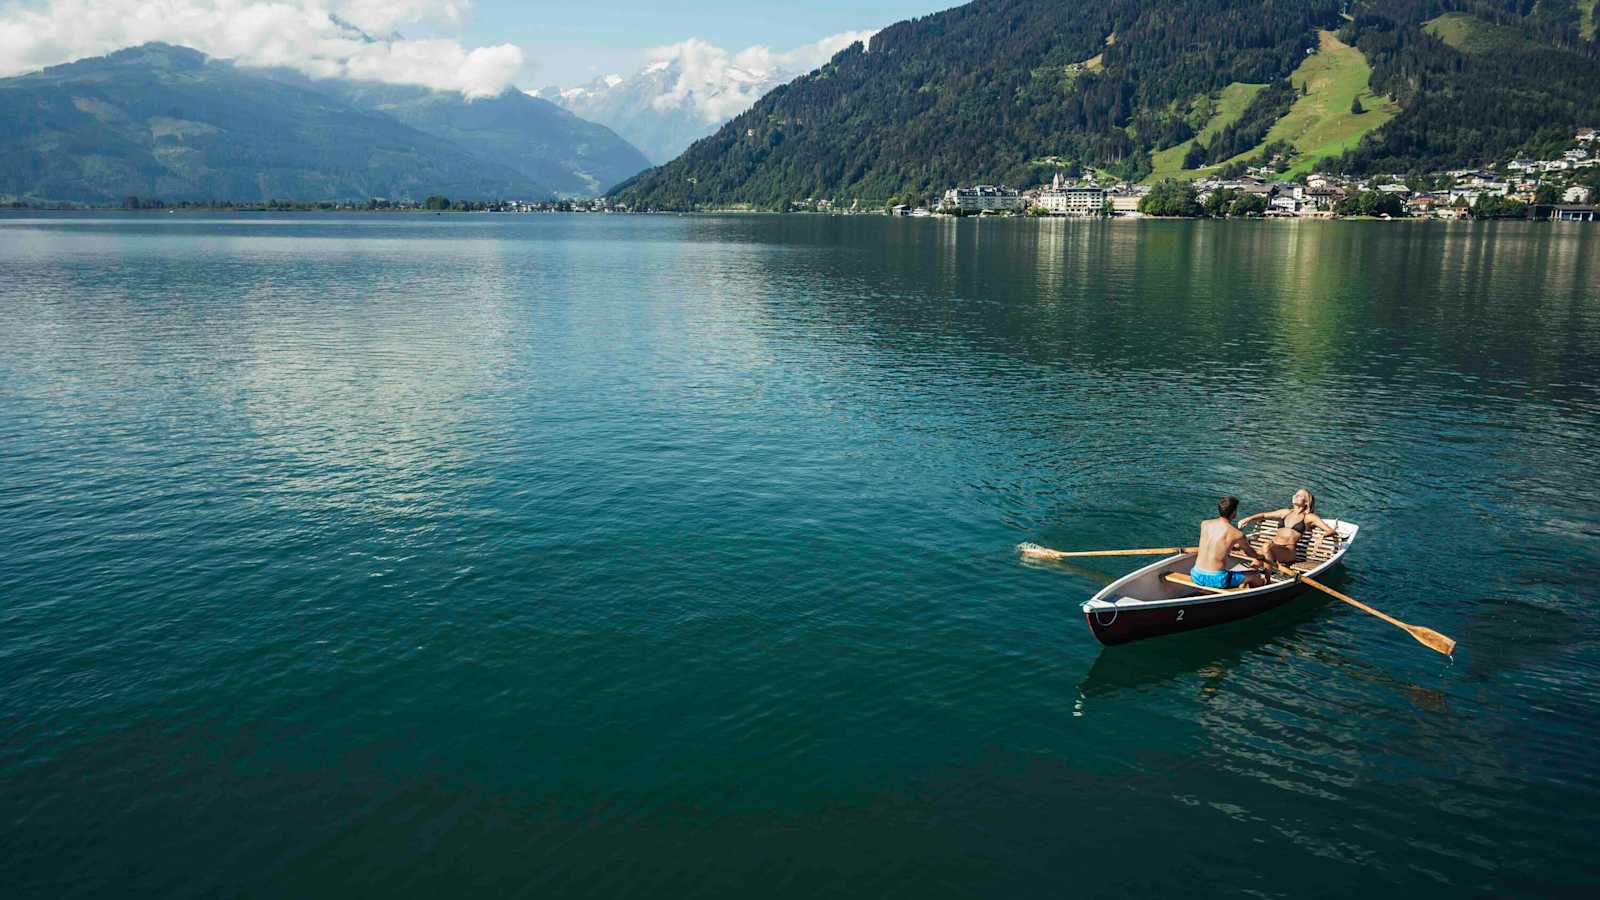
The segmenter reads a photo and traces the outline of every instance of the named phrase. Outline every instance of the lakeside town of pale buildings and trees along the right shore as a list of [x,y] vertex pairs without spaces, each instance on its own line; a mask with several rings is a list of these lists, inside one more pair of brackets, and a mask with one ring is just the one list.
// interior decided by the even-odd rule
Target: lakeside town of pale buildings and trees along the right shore
[[[1499,165],[1432,175],[1365,178],[1306,173],[1283,178],[1283,162],[1245,168],[1230,178],[1163,179],[1157,184],[1101,181],[1027,191],[979,184],[952,187],[936,205],[894,205],[901,216],[1264,216],[1264,218],[1512,218],[1597,221],[1600,130],[1579,128],[1557,159],[1512,159]],[[826,207],[822,207],[826,210]]]

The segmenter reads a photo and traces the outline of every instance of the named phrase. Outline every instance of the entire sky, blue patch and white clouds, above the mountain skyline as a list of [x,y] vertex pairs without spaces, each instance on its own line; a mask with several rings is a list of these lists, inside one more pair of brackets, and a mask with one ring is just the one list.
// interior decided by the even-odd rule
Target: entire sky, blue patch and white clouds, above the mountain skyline
[[[314,77],[490,96],[632,74],[691,38],[736,56],[870,32],[954,0],[0,0],[0,77],[150,40]],[[352,27],[354,26],[354,27]],[[378,38],[366,40],[366,37]]]

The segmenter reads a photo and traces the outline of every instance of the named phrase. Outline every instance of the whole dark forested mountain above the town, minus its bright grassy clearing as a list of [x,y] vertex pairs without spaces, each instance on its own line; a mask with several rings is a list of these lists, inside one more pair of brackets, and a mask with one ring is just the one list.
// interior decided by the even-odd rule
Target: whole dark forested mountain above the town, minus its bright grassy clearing
[[[1453,46],[1429,30],[1443,8],[1526,43]],[[1310,83],[1302,66],[1325,51],[1347,53],[1314,67],[1323,80],[1366,83]],[[1570,139],[1600,123],[1597,83],[1600,51],[1578,0],[976,0],[840,51],[613,197],[781,208],[1029,186],[1072,167],[1141,179],[1152,154],[1197,138],[1206,146],[1174,167],[1272,149],[1302,168],[1427,170]],[[1310,122],[1296,99],[1323,88],[1346,98],[1342,120]],[[1379,107],[1365,119],[1350,102],[1362,96]],[[1237,127],[1205,133],[1246,99],[1230,110]],[[1315,128],[1269,147],[1291,115]]]

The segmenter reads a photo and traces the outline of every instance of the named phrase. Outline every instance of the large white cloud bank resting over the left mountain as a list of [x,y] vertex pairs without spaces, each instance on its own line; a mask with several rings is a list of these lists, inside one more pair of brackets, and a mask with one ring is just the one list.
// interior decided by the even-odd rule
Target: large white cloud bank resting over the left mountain
[[[0,75],[30,72],[152,40],[242,66],[317,78],[365,78],[494,96],[523,67],[510,43],[466,48],[406,40],[402,26],[453,26],[461,0],[46,0],[0,6]],[[373,37],[379,35],[379,37]]]

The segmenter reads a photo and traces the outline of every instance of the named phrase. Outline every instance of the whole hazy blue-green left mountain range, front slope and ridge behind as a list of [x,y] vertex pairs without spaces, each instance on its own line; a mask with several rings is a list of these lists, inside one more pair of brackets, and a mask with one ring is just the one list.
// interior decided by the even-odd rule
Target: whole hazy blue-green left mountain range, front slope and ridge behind
[[547,199],[645,165],[517,91],[390,93],[163,43],[0,78],[0,197],[30,200]]

